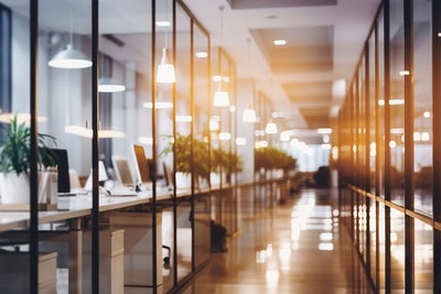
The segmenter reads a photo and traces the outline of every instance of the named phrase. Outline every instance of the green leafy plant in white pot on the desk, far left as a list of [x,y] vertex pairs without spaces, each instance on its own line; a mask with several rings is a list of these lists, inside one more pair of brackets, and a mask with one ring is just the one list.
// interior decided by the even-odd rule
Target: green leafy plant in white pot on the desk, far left
[[[10,124],[0,126],[0,195],[2,204],[28,204],[30,202],[31,129],[14,116]],[[46,140],[57,144],[49,134],[37,134],[39,167],[56,165],[56,157]]]

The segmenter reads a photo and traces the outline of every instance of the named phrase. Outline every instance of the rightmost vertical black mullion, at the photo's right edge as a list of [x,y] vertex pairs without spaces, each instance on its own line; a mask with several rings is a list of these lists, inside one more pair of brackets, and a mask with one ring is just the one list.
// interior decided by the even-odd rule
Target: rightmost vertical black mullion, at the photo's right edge
[[[441,221],[441,2],[432,1],[433,221]],[[433,293],[441,293],[441,231],[433,228]]]

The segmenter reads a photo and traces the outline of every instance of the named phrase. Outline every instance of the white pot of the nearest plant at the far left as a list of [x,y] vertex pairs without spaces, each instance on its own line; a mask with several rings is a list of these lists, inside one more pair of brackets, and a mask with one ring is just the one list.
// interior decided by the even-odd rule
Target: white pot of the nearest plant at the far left
[[15,172],[0,173],[0,195],[2,204],[29,204],[30,179],[29,175]]

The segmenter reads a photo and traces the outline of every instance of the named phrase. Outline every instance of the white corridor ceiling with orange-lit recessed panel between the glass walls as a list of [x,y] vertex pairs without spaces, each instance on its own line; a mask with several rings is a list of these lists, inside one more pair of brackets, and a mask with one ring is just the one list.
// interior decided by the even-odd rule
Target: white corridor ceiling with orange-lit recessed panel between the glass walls
[[[333,81],[351,80],[380,1],[183,2],[209,32],[212,45],[223,46],[236,62],[238,78],[254,78],[283,112],[284,128],[314,132],[331,127],[331,112],[342,102],[332,95]],[[276,47],[276,39],[288,43]]]

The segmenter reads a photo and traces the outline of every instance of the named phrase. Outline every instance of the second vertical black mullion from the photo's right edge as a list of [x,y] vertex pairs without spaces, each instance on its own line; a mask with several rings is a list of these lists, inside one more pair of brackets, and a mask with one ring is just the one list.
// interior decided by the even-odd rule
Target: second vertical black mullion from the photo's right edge
[[[405,205],[413,211],[415,146],[413,146],[413,0],[405,0]],[[415,219],[405,215],[406,231],[406,293],[413,293],[415,284]]]

